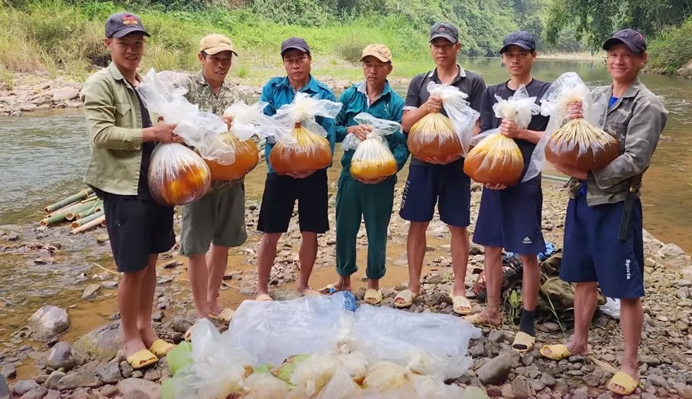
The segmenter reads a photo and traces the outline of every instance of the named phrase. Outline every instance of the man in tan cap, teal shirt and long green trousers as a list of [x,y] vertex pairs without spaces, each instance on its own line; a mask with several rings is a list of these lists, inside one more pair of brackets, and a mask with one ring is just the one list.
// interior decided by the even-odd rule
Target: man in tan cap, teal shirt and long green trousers
[[[343,141],[347,134],[365,140],[372,129],[358,125],[354,116],[367,112],[376,118],[401,123],[404,101],[390,88],[387,76],[392,72],[392,53],[382,44],[371,44],[363,50],[363,75],[365,80],[346,89],[339,101],[343,104],[336,117],[336,141]],[[385,136],[390,150],[401,170],[408,159],[406,137],[401,132]],[[351,290],[351,275],[356,266],[356,236],[361,227],[361,216],[367,230],[367,291],[365,301],[376,304],[382,301],[379,279],[385,274],[387,252],[387,227],[394,206],[394,184],[397,175],[374,180],[356,179],[351,176],[351,159],[354,150],[347,150],[341,158],[341,176],[336,192],[336,272],[339,279],[327,285],[323,291]]]

